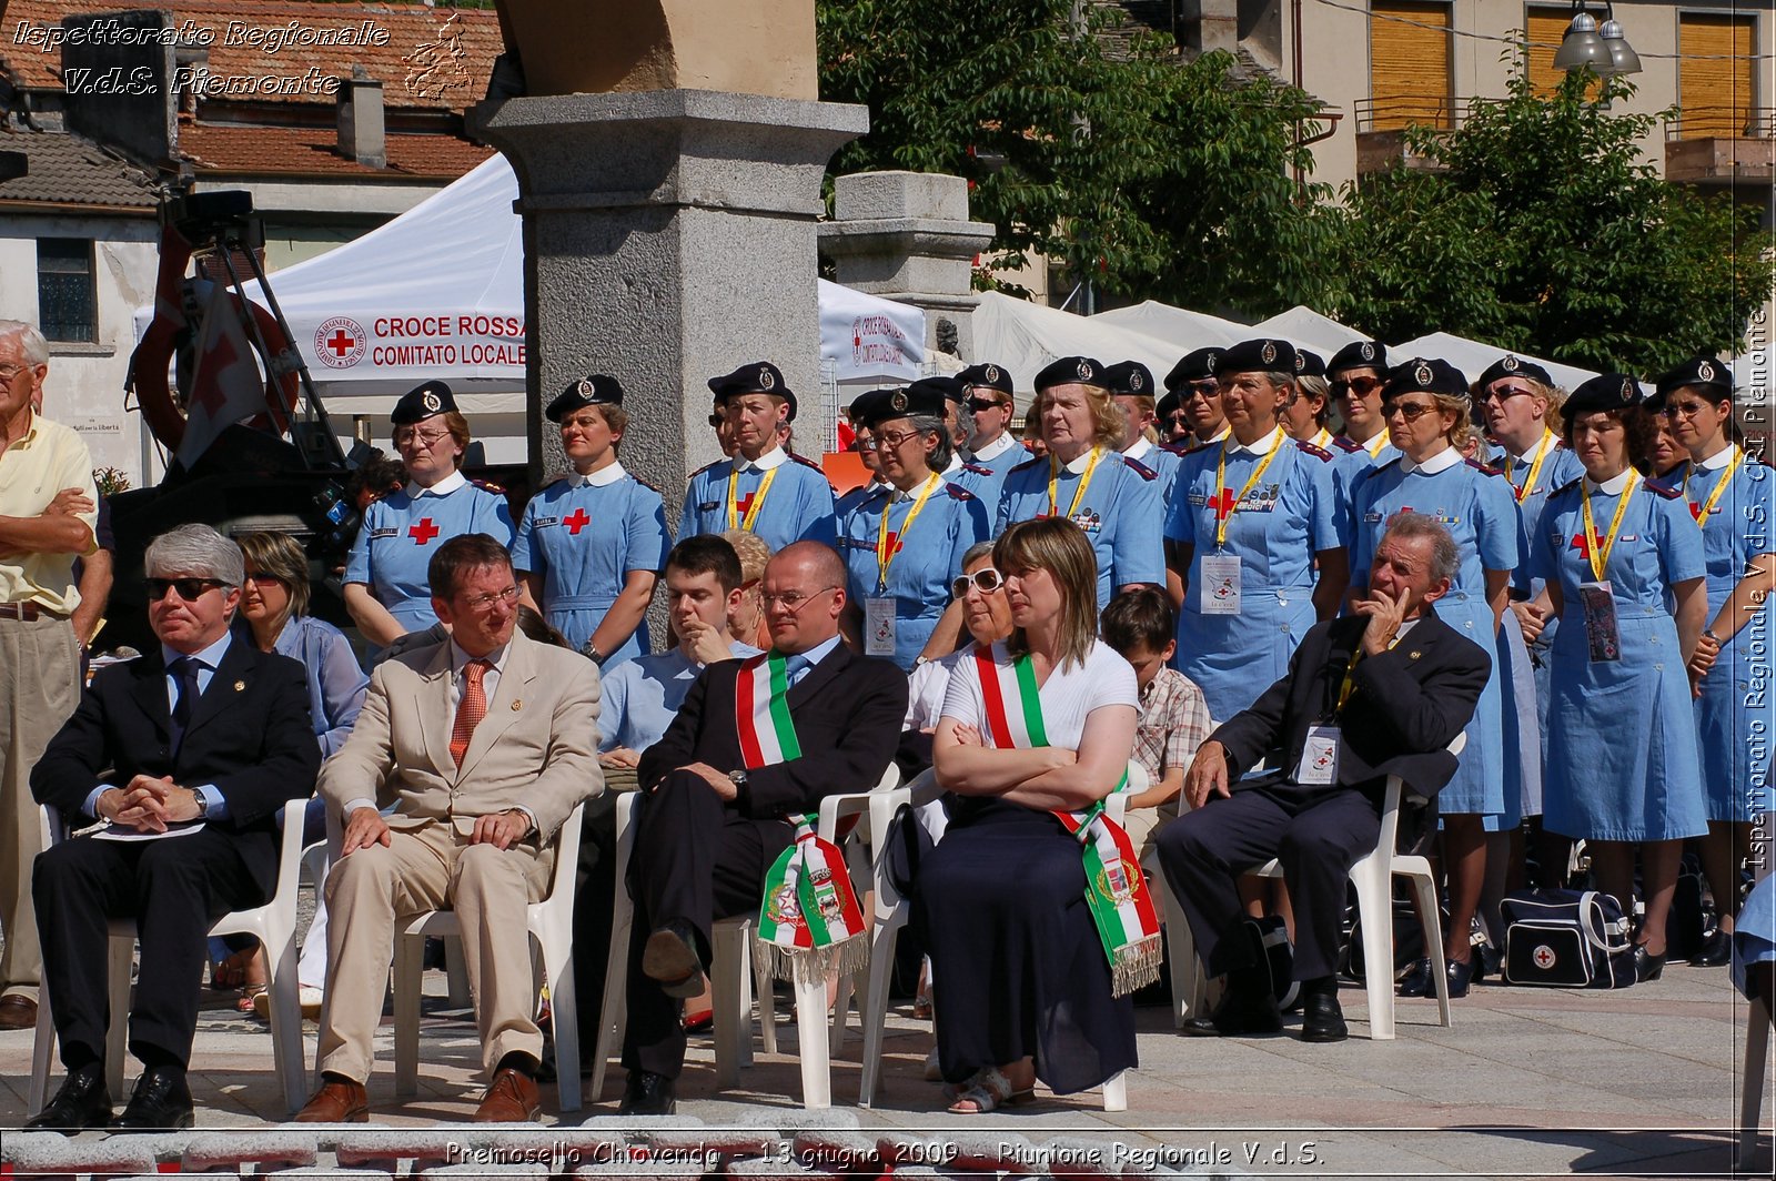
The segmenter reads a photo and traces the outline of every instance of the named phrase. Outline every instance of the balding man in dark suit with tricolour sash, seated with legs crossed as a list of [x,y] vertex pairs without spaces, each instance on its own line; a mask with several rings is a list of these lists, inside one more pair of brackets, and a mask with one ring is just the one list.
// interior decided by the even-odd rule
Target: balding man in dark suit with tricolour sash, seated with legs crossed
[[[671,1114],[684,1066],[678,1002],[703,987],[714,920],[758,909],[765,872],[792,836],[783,817],[876,787],[900,741],[906,677],[840,643],[838,554],[819,542],[787,545],[765,567],[764,602],[771,652],[710,664],[636,769],[646,801],[629,877],[625,1115]],[[753,725],[764,709],[742,717],[737,707],[755,686],[765,705],[773,664],[789,686],[792,744],[769,721]]]

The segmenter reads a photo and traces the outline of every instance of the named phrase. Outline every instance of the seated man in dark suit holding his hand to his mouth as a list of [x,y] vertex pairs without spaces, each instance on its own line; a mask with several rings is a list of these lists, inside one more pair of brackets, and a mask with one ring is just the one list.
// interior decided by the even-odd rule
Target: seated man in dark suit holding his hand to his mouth
[[[1442,524],[1399,513],[1376,547],[1357,613],[1309,630],[1289,675],[1197,749],[1185,776],[1192,812],[1160,831],[1160,865],[1208,971],[1227,975],[1227,996],[1186,1032],[1282,1028],[1234,884],[1277,858],[1295,904],[1302,1041],[1346,1037],[1334,977],[1344,879],[1380,838],[1387,776],[1428,799],[1455,774],[1444,748],[1474,716],[1492,664],[1431,609],[1456,563]],[[1272,774],[1238,778],[1266,758]]]

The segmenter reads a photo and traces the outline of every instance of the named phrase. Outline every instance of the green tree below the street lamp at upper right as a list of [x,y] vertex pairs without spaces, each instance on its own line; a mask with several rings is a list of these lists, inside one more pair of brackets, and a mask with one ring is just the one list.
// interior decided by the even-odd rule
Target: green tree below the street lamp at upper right
[[1346,190],[1344,295],[1328,311],[1382,339],[1444,330],[1570,364],[1653,373],[1740,346],[1771,293],[1762,206],[1659,179],[1659,115],[1613,114],[1625,80],[1574,75],[1474,103],[1453,133],[1414,128],[1440,170]]

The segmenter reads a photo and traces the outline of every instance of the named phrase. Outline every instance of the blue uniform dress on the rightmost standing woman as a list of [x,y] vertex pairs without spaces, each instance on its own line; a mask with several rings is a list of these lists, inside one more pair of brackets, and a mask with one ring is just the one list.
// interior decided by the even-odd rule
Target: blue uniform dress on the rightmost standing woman
[[[1737,446],[1709,458],[1709,467],[1685,464],[1677,487],[1701,522],[1701,549],[1709,563],[1709,622],[1728,600],[1746,567],[1776,551],[1776,472],[1753,458],[1733,471],[1712,508],[1703,508],[1719,487]],[[1685,480],[1687,478],[1687,480]],[[1771,693],[1771,607],[1765,602],[1721,648],[1701,678],[1696,730],[1701,781],[1710,820],[1755,820],[1771,810],[1769,748],[1776,742]]]

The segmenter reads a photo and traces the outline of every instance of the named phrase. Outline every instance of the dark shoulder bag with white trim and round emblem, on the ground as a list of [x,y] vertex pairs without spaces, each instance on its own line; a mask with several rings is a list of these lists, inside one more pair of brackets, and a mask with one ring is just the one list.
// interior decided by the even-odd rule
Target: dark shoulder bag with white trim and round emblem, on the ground
[[1504,897],[1504,982],[1543,987],[1634,984],[1630,920],[1597,890],[1520,890]]

